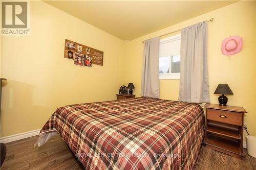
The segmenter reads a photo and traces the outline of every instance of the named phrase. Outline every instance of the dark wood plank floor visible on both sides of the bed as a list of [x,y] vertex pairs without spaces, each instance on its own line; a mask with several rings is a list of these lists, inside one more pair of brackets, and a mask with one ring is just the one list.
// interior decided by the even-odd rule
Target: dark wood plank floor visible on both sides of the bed
[[[7,155],[1,169],[83,169],[59,136],[39,148],[34,148],[36,140],[34,136],[6,143]],[[256,170],[256,159],[246,155],[239,160],[203,145],[194,169]]]

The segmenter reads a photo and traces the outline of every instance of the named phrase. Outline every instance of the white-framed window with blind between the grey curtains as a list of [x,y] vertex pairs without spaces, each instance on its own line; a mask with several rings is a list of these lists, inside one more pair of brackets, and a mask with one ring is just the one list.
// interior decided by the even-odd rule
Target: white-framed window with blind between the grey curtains
[[180,34],[160,40],[159,79],[180,79]]

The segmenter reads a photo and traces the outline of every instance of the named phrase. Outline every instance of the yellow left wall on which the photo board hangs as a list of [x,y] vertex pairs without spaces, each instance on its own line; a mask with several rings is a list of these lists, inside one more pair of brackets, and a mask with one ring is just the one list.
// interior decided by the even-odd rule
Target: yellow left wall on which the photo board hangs
[[[63,58],[65,38],[103,51],[103,66]],[[124,83],[125,42],[44,2],[31,2],[30,36],[1,42],[1,137],[40,129],[63,105],[114,100]]]

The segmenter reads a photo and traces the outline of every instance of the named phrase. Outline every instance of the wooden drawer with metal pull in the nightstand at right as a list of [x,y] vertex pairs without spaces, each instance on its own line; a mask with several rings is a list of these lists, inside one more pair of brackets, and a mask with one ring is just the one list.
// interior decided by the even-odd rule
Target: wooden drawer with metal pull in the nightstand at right
[[215,120],[217,122],[222,122],[226,124],[232,125],[243,125],[243,114],[238,112],[217,110],[217,109],[209,109],[207,108],[207,119]]

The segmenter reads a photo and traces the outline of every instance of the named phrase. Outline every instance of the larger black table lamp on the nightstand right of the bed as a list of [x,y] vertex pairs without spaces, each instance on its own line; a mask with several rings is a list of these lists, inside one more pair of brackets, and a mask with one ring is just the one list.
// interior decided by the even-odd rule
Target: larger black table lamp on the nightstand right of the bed
[[218,98],[220,106],[227,106],[227,97],[224,94],[233,94],[232,90],[227,84],[219,84],[214,93],[222,94]]

